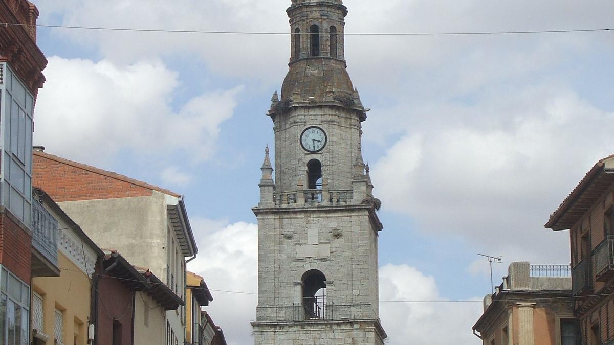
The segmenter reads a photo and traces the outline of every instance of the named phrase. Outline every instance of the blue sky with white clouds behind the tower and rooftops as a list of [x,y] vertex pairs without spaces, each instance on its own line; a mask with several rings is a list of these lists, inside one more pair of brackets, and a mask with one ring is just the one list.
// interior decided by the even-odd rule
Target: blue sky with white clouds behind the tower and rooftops
[[[36,0],[40,24],[289,31],[284,0]],[[611,1],[346,1],[346,33],[612,27]],[[287,72],[288,36],[39,28],[49,58],[34,143],[185,195],[216,290],[255,292],[265,112]],[[548,215],[614,151],[614,31],[348,36],[363,104],[363,155],[379,216],[382,300],[481,299],[489,266],[569,263]],[[610,126],[608,126],[610,125]],[[230,344],[251,343],[255,297],[214,292]],[[481,303],[382,303],[389,344],[479,344]],[[441,324],[449,332],[440,334]],[[416,327],[419,325],[419,327]]]

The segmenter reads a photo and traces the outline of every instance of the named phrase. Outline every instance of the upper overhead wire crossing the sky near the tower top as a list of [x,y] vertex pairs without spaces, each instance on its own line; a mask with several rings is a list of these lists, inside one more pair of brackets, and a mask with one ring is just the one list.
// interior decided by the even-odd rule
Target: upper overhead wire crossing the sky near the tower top
[[[267,31],[214,31],[214,30],[173,30],[173,29],[139,29],[139,28],[113,28],[103,26],[74,26],[74,25],[48,25],[48,24],[22,24],[0,23],[4,26],[37,26],[39,28],[82,29],[98,31],[131,31],[141,33],[180,33],[180,34],[231,34],[231,35],[283,35],[295,33],[278,33]],[[610,31],[611,28],[593,29],[562,29],[562,30],[522,30],[522,31],[460,31],[441,33],[344,33],[345,36],[461,36],[461,35],[509,35],[509,34],[553,34],[553,33],[586,33],[591,31]],[[311,33],[301,33],[311,35]]]

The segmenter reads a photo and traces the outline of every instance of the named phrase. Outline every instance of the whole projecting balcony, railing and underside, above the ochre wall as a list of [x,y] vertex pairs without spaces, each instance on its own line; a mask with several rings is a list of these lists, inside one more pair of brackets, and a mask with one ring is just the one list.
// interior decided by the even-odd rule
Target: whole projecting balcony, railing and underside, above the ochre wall
[[58,220],[33,198],[32,276],[56,276],[58,272]]

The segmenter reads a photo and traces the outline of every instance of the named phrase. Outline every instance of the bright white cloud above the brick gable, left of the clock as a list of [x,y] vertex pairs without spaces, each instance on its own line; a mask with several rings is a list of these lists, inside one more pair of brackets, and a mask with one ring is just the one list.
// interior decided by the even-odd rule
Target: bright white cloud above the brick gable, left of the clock
[[34,141],[52,153],[88,163],[123,149],[139,154],[190,150],[195,160],[207,159],[242,90],[203,93],[174,110],[177,74],[160,61],[117,66],[107,60],[52,56],[45,76],[36,104]]

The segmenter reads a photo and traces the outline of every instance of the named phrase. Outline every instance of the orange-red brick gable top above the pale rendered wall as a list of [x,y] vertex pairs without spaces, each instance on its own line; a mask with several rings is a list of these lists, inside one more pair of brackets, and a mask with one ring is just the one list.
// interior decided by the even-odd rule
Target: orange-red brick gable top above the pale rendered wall
[[148,188],[39,155],[33,155],[32,172],[33,185],[56,202],[152,195]]

